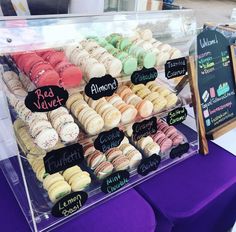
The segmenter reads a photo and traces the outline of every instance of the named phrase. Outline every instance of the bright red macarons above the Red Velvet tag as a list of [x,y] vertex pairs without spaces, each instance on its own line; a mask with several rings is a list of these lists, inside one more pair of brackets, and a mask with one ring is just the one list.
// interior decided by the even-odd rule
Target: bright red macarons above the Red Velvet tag
[[82,72],[68,61],[64,51],[48,49],[12,54],[18,68],[37,86],[79,86]]

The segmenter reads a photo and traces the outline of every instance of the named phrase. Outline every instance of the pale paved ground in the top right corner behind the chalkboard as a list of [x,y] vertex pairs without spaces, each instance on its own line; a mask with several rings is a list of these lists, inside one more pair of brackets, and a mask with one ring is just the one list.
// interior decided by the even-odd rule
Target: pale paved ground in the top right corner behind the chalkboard
[[175,5],[194,9],[198,26],[204,22],[226,23],[230,21],[232,9],[236,8],[236,0],[175,0]]

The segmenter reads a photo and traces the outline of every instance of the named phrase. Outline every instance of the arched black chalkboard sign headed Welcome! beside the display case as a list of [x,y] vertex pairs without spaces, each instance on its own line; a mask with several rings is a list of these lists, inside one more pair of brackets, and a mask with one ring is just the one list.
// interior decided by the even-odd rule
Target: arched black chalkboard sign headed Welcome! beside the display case
[[218,31],[197,37],[198,87],[206,134],[235,118],[236,95],[229,41]]

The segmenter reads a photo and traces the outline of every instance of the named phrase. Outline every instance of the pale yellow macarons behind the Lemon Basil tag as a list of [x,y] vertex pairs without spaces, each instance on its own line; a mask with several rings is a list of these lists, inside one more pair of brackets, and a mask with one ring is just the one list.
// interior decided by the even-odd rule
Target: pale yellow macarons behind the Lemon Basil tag
[[46,173],[43,159],[28,158],[37,179],[42,182],[51,202],[55,203],[67,194],[86,189],[91,183],[90,174],[73,166],[55,174]]

